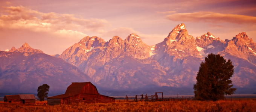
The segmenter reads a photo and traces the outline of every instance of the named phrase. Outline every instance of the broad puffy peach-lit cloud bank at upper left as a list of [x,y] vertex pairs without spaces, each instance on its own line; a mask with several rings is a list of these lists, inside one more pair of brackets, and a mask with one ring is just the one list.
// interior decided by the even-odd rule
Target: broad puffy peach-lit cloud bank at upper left
[[105,19],[84,19],[71,14],[42,13],[23,6],[3,7],[7,15],[0,16],[0,29],[26,29],[53,34],[83,35],[83,32],[100,32],[111,26]]

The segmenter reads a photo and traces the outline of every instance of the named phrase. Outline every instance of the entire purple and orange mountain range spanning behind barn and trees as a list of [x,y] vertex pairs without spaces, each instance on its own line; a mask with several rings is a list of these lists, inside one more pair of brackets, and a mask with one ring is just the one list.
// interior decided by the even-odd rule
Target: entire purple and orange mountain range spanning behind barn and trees
[[1,51],[0,90],[11,91],[24,85],[35,88],[32,86],[41,83],[64,88],[70,81],[92,81],[113,90],[192,88],[200,63],[209,53],[232,60],[235,73],[231,80],[235,87],[256,87],[256,43],[245,32],[232,40],[220,40],[210,32],[194,38],[184,24],[179,24],[153,46],[143,43],[139,35],[130,34],[125,40],[114,36],[109,41],[86,36],[61,55],[46,55],[27,43],[19,49]]

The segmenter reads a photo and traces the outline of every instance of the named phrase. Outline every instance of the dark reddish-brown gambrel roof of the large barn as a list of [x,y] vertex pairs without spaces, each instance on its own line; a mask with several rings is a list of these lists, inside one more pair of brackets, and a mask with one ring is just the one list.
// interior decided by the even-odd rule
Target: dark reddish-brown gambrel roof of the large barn
[[[83,87],[89,83],[91,83],[91,82],[72,83],[71,85],[69,85],[69,87],[67,87],[65,94],[71,94],[71,95],[80,94]],[[96,88],[95,85],[94,85],[94,87]],[[98,90],[97,90],[97,92],[98,92]]]

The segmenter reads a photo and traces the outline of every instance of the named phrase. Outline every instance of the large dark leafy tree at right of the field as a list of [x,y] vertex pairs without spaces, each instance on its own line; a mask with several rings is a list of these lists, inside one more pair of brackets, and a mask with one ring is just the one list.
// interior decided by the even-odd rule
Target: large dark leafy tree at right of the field
[[197,83],[194,84],[194,93],[197,100],[219,100],[224,95],[234,94],[236,88],[230,77],[234,74],[234,66],[229,59],[226,61],[223,56],[209,54],[205,57],[197,72]]

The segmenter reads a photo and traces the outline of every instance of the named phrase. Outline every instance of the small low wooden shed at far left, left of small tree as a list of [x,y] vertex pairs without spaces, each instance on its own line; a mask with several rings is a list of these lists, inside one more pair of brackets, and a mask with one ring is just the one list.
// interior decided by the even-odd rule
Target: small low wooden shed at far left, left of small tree
[[35,104],[34,94],[5,95],[4,102]]

